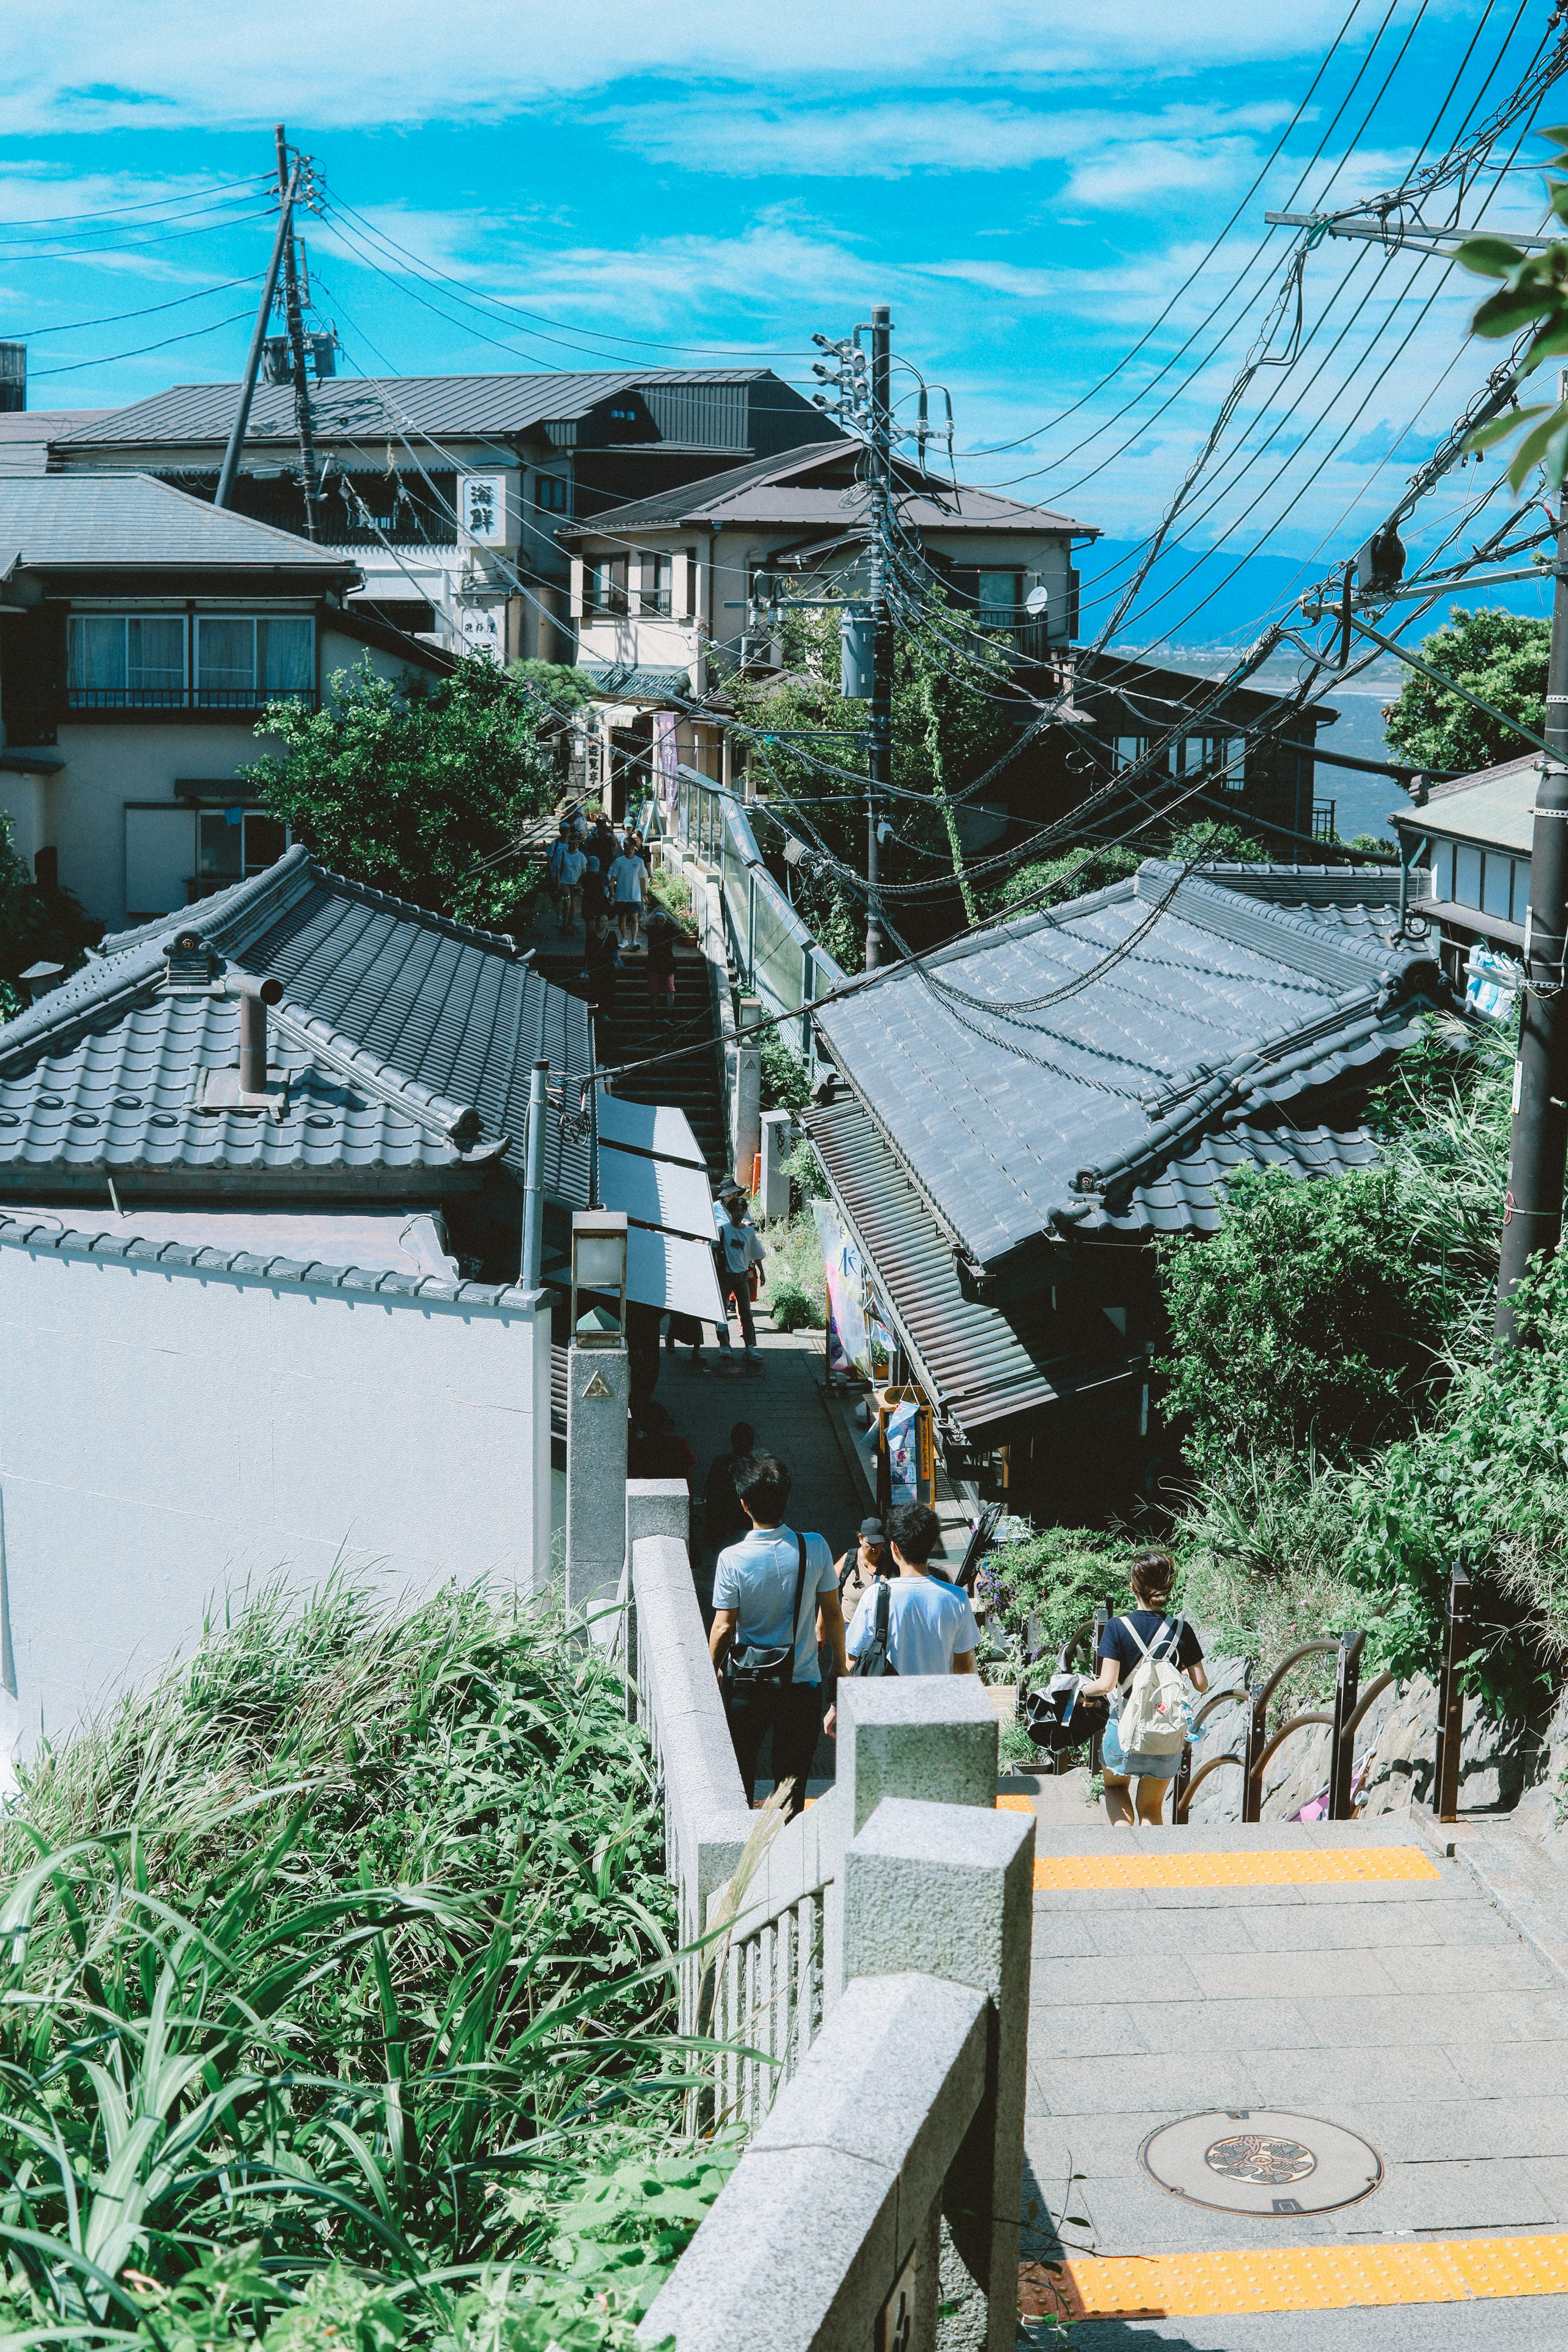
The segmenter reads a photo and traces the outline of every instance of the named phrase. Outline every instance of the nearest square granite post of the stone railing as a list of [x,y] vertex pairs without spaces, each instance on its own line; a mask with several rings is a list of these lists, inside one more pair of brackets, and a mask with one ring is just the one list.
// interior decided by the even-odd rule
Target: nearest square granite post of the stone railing
[[[971,1677],[959,1677],[971,1679]],[[987,1994],[985,2098],[943,2192],[987,2296],[987,2352],[1013,2352],[1030,2042],[1034,1816],[884,1797],[844,1849],[844,1973],[945,1976]]]

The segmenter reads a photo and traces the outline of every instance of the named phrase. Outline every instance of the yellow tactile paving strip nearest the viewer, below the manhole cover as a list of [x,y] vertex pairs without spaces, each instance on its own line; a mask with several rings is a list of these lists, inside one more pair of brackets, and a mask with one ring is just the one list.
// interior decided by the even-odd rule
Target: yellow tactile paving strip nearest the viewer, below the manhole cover
[[1448,2239],[1427,2246],[1279,2246],[1262,2253],[1072,2256],[1060,2274],[1025,2263],[1025,2314],[1213,2319],[1232,2312],[1342,2312],[1382,2303],[1566,2296],[1568,2237]]

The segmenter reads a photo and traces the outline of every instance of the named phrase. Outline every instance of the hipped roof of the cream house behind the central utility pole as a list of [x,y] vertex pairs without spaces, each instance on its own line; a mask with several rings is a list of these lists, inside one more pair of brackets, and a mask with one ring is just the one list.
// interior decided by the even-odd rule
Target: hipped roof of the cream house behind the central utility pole
[[[712,524],[766,524],[785,529],[816,529],[832,524],[842,532],[865,529],[865,499],[846,506],[844,494],[856,489],[856,445],[823,449],[813,442],[804,449],[788,449],[783,456],[752,459],[750,466],[731,466],[729,473],[705,475],[679,489],[658,492],[654,499],[635,499],[630,506],[614,506],[592,522],[571,524],[557,539],[576,543],[581,539],[625,539],[658,524],[682,527],[686,522]],[[905,524],[919,529],[1013,529],[1013,532],[1072,532],[1084,536],[1088,524],[1072,515],[1058,515],[1044,506],[1020,506],[1001,499],[992,489],[959,487],[957,492],[936,482],[929,485],[914,468],[900,466],[898,513]]]

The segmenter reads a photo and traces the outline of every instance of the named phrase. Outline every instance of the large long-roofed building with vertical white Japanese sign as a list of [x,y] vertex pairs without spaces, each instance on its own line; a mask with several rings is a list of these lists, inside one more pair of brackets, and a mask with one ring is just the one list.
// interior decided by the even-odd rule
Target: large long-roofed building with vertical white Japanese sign
[[[61,473],[136,468],[212,499],[237,383],[176,383],[49,445]],[[557,529],[837,440],[766,367],[329,379],[310,388],[320,543],[383,621],[501,661],[574,661]],[[259,383],[233,508],[306,534],[294,388]]]

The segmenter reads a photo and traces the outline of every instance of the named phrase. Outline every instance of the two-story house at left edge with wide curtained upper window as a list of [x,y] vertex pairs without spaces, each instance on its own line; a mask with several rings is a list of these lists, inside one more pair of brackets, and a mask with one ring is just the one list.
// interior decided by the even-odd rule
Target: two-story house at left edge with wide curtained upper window
[[150,475],[0,477],[0,814],[40,882],[110,929],[282,856],[237,767],[268,703],[367,656],[451,656],[348,604],[357,564]]

